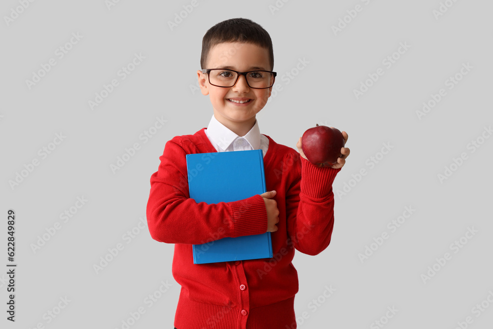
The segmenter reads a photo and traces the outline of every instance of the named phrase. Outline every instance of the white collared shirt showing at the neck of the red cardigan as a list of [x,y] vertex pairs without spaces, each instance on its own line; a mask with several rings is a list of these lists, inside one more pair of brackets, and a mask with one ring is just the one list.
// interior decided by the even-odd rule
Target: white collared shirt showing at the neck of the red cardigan
[[205,132],[212,146],[218,152],[262,149],[263,156],[265,156],[269,147],[269,139],[260,134],[257,119],[255,119],[255,124],[250,131],[245,136],[240,137],[217,121],[214,114],[212,114],[211,121]]

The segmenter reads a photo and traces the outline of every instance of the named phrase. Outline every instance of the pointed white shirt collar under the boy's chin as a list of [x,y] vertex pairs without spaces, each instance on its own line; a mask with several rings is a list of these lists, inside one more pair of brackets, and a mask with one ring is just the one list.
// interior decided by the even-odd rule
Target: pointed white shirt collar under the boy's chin
[[[223,151],[228,148],[237,138],[237,134],[232,132],[225,125],[217,121],[215,116],[212,114],[211,121],[207,127],[207,135],[219,146]],[[258,128],[258,121],[255,119],[255,124],[250,129],[244,139],[250,144],[253,149],[260,149],[260,129]]]

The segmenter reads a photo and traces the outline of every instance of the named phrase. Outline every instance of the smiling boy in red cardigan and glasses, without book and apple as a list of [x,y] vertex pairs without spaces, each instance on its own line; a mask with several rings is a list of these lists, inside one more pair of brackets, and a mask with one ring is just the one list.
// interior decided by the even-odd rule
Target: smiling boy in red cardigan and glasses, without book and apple
[[[301,137],[298,153],[260,134],[255,115],[276,75],[272,41],[260,25],[237,18],[213,26],[202,41],[201,67],[199,85],[210,97],[211,121],[166,143],[147,203],[152,238],[175,244],[172,272],[181,286],[175,327],[296,328],[294,249],[317,255],[328,246],[332,182],[350,150],[343,147],[337,164],[319,168],[303,154]],[[263,151],[268,192],[209,205],[190,199],[185,154],[248,149]],[[265,232],[272,232],[273,258],[193,263],[192,244]]]

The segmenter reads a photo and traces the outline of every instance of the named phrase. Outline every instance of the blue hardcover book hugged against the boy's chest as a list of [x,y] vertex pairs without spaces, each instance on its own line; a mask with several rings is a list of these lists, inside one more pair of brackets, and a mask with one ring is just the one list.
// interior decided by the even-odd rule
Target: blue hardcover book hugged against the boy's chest
[[[186,155],[190,198],[197,203],[232,202],[267,192],[262,150]],[[193,263],[272,258],[271,232],[192,245]]]

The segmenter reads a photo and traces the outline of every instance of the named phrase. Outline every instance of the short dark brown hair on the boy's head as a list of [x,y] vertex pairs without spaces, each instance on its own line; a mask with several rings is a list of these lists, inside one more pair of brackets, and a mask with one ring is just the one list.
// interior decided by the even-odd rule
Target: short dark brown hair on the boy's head
[[274,69],[274,50],[267,31],[259,24],[247,18],[231,18],[211,27],[202,38],[201,69],[205,67],[207,56],[213,46],[223,42],[244,42],[256,44],[269,51],[270,70]]

